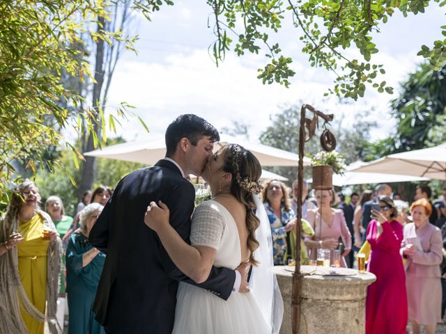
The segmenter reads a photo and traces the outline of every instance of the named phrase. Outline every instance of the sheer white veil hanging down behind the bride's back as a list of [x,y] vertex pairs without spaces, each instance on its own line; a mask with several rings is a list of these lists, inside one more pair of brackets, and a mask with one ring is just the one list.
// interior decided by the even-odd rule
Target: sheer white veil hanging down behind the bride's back
[[265,207],[256,194],[252,194],[256,204],[256,216],[260,220],[260,226],[256,230],[256,239],[259,241],[259,248],[254,252],[254,259],[259,265],[252,269],[249,280],[249,289],[256,300],[257,305],[270,326],[270,333],[279,333],[284,315],[284,301],[280,294],[277,278],[272,271],[274,262],[272,260],[272,238],[270,223]]

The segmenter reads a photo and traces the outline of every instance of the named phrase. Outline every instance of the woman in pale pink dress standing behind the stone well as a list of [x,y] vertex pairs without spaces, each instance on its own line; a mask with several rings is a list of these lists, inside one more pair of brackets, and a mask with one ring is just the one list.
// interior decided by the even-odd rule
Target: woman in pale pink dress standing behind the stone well
[[348,231],[344,212],[333,209],[335,204],[334,191],[317,190],[315,192],[318,208],[308,210],[307,221],[312,225],[314,237],[305,238],[305,246],[309,249],[309,259],[316,260],[319,248],[330,249],[330,264],[334,264],[334,250],[339,248],[339,238],[344,242],[344,253],[341,255],[340,266],[347,267],[344,256],[351,250],[351,234]]

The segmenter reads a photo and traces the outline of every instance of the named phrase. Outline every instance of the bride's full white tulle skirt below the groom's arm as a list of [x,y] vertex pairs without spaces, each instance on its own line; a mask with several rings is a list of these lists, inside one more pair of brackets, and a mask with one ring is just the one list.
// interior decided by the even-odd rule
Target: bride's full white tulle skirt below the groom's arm
[[174,334],[267,334],[265,319],[251,293],[231,294],[227,301],[206,289],[180,283]]

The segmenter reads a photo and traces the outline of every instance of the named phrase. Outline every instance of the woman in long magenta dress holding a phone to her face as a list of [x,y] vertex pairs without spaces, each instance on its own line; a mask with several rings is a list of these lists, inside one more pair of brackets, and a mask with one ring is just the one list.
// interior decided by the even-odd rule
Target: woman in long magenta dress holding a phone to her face
[[371,247],[367,270],[376,281],[367,289],[366,334],[405,334],[408,319],[406,278],[399,254],[403,227],[394,220],[397,207],[387,196],[378,199],[380,210],[372,212],[367,228]]

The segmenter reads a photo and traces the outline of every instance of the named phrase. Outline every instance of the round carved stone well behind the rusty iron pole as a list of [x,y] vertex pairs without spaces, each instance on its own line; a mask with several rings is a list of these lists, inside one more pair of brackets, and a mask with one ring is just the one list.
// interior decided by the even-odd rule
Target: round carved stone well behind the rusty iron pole
[[[284,299],[281,334],[291,334],[293,267],[274,267]],[[367,286],[373,273],[353,269],[302,266],[299,334],[365,333]],[[344,275],[344,276],[338,276]]]

